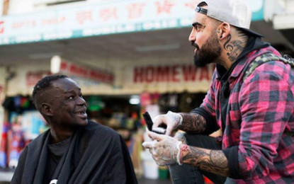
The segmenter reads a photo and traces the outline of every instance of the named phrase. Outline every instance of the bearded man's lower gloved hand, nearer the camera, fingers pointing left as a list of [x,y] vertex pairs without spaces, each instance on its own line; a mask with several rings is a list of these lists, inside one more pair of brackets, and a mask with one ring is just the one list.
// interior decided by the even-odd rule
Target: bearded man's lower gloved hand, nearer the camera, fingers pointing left
[[[167,135],[148,132],[152,142],[143,142],[145,149],[149,149],[152,158],[159,166],[168,166],[180,161],[181,142]],[[181,164],[181,163],[179,163]]]

